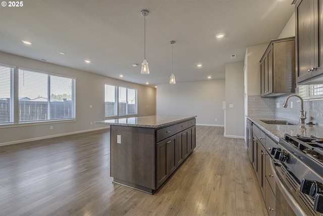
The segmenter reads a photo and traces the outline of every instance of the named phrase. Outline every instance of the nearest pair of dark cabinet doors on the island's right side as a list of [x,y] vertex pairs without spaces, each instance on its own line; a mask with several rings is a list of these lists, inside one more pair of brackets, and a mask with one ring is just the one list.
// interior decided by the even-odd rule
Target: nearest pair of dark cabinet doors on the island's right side
[[176,135],[156,144],[157,187],[176,170],[176,152]]

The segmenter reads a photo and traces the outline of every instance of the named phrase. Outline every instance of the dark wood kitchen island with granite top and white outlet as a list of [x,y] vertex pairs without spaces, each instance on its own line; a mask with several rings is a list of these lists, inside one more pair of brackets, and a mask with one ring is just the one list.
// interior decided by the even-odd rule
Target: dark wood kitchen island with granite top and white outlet
[[95,122],[110,124],[114,182],[152,194],[196,147],[195,117],[152,115]]

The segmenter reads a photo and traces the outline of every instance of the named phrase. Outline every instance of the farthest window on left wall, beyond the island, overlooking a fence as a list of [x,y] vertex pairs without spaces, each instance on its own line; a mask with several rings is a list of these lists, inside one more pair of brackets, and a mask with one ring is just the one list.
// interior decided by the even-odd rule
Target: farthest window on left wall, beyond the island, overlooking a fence
[[105,117],[137,114],[137,90],[105,84]]

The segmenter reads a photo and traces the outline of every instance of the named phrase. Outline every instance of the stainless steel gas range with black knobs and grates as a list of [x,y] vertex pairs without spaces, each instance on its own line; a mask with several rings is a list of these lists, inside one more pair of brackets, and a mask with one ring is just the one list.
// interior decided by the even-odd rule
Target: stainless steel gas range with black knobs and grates
[[285,134],[271,149],[276,215],[323,216],[322,140]]

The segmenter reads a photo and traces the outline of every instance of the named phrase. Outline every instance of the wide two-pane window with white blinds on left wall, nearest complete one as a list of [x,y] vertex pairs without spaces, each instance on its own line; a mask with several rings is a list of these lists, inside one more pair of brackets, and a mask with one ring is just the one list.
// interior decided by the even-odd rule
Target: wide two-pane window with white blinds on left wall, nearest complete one
[[19,122],[75,119],[75,82],[19,69]]

